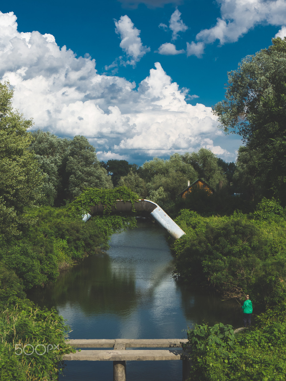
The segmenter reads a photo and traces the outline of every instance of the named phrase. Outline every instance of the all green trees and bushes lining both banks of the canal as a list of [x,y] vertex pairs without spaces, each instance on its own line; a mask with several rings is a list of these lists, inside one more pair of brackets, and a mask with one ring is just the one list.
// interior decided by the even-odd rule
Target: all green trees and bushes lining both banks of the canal
[[[56,378],[58,361],[72,350],[64,343],[69,328],[25,291],[54,282],[61,269],[107,248],[113,232],[135,226],[134,216],[110,211],[116,200],[138,198],[158,203],[186,233],[170,239],[179,281],[239,304],[249,294],[254,304],[255,328],[246,333],[234,336],[222,323],[188,331],[192,378],[285,378],[286,39],[274,38],[228,78],[213,110],[226,133],[243,139],[236,163],[201,148],[140,167],[99,162],[84,136],[27,132],[31,120],[13,110],[13,91],[0,84],[0,381]],[[178,197],[198,178],[213,194],[193,187]],[[92,204],[104,213],[84,223]],[[59,347],[47,356],[16,354],[25,343]]]

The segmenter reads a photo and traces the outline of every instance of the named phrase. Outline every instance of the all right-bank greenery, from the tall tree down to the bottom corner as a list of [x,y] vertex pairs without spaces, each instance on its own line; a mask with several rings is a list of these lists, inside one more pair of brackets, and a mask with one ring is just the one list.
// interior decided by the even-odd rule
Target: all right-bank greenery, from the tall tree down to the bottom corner
[[233,174],[237,211],[219,216],[189,208],[177,217],[186,231],[173,243],[178,277],[225,298],[249,294],[254,304],[254,328],[246,333],[233,335],[222,324],[188,331],[191,379],[285,379],[285,78],[285,37],[228,73],[225,100],[213,110],[225,132],[245,143]]

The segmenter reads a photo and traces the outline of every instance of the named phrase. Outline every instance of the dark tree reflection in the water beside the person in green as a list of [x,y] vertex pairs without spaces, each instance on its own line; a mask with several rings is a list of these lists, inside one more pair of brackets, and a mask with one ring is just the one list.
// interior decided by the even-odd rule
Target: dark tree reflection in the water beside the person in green
[[182,298],[182,310],[187,321],[214,325],[217,322],[241,326],[241,308],[237,301],[223,301],[217,293],[176,282]]

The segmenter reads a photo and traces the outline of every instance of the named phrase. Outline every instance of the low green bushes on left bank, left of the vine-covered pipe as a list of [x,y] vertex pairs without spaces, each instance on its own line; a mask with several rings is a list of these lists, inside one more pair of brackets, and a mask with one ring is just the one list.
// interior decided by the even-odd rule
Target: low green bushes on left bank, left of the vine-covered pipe
[[22,279],[24,289],[56,280],[59,269],[71,266],[106,245],[104,223],[70,216],[66,208],[40,207],[26,211],[34,223],[21,240],[0,243],[0,260]]

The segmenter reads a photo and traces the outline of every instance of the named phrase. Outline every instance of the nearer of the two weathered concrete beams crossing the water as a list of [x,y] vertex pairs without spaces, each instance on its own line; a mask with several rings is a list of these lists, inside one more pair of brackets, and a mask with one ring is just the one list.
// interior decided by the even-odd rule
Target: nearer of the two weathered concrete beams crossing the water
[[162,361],[162,360],[182,360],[183,351],[181,350],[168,350],[159,349],[152,350],[137,349],[135,351],[129,350],[93,350],[93,351],[80,351],[76,353],[66,354],[63,360],[88,360],[88,361]]

